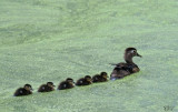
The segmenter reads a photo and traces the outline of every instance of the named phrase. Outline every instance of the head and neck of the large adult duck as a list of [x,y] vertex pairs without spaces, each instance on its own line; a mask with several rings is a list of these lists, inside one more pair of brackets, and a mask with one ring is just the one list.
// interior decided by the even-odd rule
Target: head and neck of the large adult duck
[[137,52],[136,48],[127,48],[125,50],[125,61],[127,63],[134,63],[132,62],[134,57],[140,57],[141,58],[141,55]]

